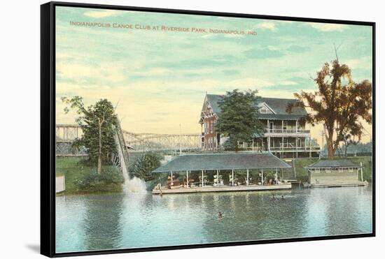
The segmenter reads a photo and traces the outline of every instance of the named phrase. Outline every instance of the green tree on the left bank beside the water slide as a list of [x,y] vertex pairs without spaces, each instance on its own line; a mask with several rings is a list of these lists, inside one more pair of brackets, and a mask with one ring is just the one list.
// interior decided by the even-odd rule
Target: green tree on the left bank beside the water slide
[[94,105],[85,108],[83,98],[74,96],[73,98],[63,97],[62,101],[69,107],[64,108],[64,112],[76,109],[79,117],[76,122],[83,129],[83,136],[74,146],[85,146],[89,151],[90,161],[97,161],[97,173],[102,172],[102,161],[109,163],[111,154],[116,152],[115,127],[118,117],[110,101],[101,99]]

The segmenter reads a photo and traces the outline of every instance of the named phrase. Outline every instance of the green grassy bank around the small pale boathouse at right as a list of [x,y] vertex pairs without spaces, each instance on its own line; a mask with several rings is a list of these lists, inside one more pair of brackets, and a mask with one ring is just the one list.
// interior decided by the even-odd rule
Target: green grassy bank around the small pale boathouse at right
[[[335,158],[339,159],[339,158]],[[347,157],[347,158],[341,158],[349,160],[356,165],[360,165],[360,162],[363,163],[363,179],[367,182],[372,181],[372,157],[371,156],[355,156],[355,157]],[[307,182],[307,171],[304,167],[307,165],[311,165],[311,163],[314,163],[318,161],[318,158],[297,158],[294,160],[294,166],[295,166],[295,172],[297,172],[297,179],[301,180],[302,182]]]

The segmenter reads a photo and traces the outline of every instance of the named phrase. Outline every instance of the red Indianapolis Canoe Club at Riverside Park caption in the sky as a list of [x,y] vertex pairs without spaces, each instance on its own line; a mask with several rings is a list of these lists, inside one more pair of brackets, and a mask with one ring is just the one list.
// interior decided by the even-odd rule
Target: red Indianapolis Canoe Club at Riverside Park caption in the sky
[[130,29],[130,30],[144,30],[144,31],[176,31],[176,32],[190,32],[198,34],[232,34],[232,35],[248,35],[257,36],[255,30],[242,29],[214,29],[214,28],[199,28],[199,27],[170,27],[166,25],[146,25],[146,24],[120,24],[109,22],[73,22],[70,21],[71,26],[76,27],[92,27],[92,28],[106,28],[106,29]]

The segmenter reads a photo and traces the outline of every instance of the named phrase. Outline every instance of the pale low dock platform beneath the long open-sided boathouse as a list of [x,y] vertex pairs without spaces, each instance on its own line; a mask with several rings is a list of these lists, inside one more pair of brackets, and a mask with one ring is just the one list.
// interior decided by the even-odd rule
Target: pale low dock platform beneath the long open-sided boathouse
[[291,184],[277,185],[242,185],[242,186],[204,186],[204,187],[181,187],[172,189],[153,189],[153,194],[168,194],[168,193],[211,193],[224,191],[272,191],[272,190],[287,190],[291,188]]

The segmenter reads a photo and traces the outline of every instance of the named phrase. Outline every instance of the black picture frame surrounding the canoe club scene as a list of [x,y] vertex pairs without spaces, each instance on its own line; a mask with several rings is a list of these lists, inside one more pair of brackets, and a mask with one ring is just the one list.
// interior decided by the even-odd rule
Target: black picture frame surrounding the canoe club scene
[[[358,235],[335,235],[328,237],[301,237],[288,239],[268,239],[244,242],[226,242],[216,244],[195,244],[181,246],[161,246],[140,249],[117,249],[85,251],[71,253],[55,252],[55,8],[57,6],[135,10],[155,13],[176,13],[184,15],[209,15],[223,17],[245,17],[265,20],[290,20],[299,22],[321,22],[333,24],[356,24],[372,27],[372,86],[373,86],[373,121],[372,121],[372,233]],[[49,2],[41,5],[41,254],[48,257],[86,256],[108,253],[132,253],[141,251],[161,251],[174,249],[197,249],[216,246],[239,246],[248,244],[267,244],[281,242],[314,241],[323,239],[346,239],[375,236],[375,22],[348,20],[325,20],[304,17],[284,17],[272,15],[251,15],[242,13],[217,13],[197,10],[175,10],[162,8],[142,8],[132,6],[110,6],[90,3]]]

